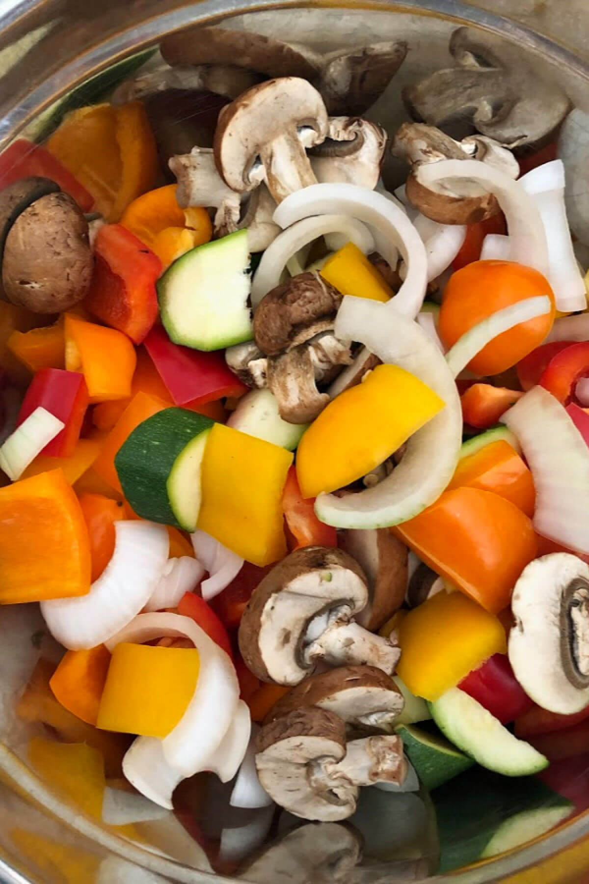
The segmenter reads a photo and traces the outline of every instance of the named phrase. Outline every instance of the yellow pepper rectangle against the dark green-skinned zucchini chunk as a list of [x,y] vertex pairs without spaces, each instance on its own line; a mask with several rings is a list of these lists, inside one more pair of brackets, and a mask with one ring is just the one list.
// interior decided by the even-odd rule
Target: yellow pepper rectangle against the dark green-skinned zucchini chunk
[[254,565],[282,559],[282,495],[291,463],[290,451],[215,423],[200,469],[200,530]]

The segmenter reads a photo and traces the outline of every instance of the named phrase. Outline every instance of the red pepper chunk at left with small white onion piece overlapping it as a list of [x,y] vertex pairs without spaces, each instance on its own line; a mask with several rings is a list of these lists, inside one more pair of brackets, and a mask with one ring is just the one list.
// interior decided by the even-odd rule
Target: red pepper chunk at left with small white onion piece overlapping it
[[34,412],[46,408],[63,421],[64,429],[42,449],[49,457],[71,457],[88,407],[88,388],[84,375],[64,369],[37,371],[20,406],[17,426]]

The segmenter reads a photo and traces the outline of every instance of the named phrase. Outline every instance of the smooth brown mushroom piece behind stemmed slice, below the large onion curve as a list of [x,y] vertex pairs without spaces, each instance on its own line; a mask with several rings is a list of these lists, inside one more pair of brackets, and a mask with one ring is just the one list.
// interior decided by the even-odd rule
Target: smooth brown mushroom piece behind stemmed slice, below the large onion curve
[[368,580],[368,604],[356,621],[365,629],[380,629],[403,605],[409,551],[387,528],[340,531],[339,545]]

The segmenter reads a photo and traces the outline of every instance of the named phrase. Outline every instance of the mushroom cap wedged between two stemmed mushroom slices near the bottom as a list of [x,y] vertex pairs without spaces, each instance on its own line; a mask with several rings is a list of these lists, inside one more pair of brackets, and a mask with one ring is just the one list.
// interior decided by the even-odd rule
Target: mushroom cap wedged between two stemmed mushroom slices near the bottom
[[291,688],[272,707],[266,722],[301,706],[327,709],[354,728],[385,730],[403,712],[404,697],[396,682],[381,669],[374,666],[337,667],[311,675]]

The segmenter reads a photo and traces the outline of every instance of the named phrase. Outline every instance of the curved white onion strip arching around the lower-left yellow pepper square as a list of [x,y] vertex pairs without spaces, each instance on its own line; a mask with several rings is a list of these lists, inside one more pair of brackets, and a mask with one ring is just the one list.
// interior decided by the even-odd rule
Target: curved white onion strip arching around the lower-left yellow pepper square
[[106,643],[144,644],[162,636],[189,638],[199,652],[199,679],[193,698],[175,728],[162,739],[166,761],[184,776],[208,770],[209,759],[230,727],[239,700],[238,677],[227,654],[190,617],[140,613]]

